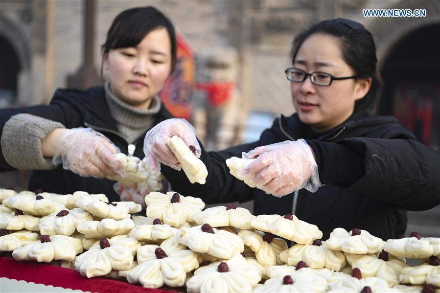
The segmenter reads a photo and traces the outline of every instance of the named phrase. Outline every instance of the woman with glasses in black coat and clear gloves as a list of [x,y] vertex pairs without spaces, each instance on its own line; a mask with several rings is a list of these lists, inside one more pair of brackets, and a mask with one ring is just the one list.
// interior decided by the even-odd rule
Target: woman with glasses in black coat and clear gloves
[[[296,113],[281,115],[253,143],[220,152],[200,145],[206,184],[191,184],[176,171],[166,147],[176,134],[199,146],[185,121],[166,120],[150,130],[146,156],[162,163],[173,190],[207,203],[254,200],[255,215],[294,214],[317,225],[323,239],[336,227],[384,240],[403,237],[407,210],[440,203],[440,155],[394,117],[372,113],[381,81],[371,33],[347,19],[323,21],[295,38],[291,56],[285,73]],[[255,158],[240,175],[257,188],[229,173],[225,161],[233,156]]]

